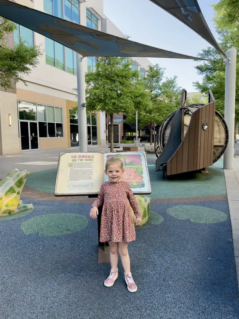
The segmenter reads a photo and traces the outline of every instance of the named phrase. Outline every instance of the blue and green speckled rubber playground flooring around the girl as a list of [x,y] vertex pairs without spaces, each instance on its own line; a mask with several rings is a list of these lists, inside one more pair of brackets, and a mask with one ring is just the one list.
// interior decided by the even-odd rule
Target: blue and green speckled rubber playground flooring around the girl
[[209,174],[166,181],[155,157],[147,158],[150,219],[129,245],[138,291],[127,291],[120,263],[114,286],[103,285],[110,264],[98,264],[91,203],[45,200],[56,170],[33,173],[26,183],[32,197],[22,200],[34,210],[0,218],[1,319],[238,318],[222,162]]

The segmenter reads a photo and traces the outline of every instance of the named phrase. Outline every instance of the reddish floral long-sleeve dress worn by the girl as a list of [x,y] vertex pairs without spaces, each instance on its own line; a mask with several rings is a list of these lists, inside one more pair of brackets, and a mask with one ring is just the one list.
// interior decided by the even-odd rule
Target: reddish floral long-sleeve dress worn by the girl
[[103,205],[100,242],[135,240],[134,219],[127,198],[135,216],[141,217],[139,205],[127,182],[105,182],[101,185],[98,198],[91,206]]

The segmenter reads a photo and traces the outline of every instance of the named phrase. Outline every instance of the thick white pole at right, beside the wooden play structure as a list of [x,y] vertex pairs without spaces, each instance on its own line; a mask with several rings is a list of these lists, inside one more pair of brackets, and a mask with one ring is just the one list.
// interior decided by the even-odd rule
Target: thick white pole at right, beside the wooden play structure
[[223,154],[223,168],[233,169],[234,130],[235,130],[235,88],[236,88],[236,48],[226,52],[227,59],[225,74],[225,106],[224,118],[228,126],[228,146]]

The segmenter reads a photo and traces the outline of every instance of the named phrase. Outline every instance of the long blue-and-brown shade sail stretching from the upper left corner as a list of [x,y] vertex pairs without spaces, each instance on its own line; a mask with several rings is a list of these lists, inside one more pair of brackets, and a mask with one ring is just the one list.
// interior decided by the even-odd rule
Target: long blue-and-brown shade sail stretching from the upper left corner
[[83,56],[131,56],[200,59],[126,40],[9,0],[0,0],[0,15],[52,39]]

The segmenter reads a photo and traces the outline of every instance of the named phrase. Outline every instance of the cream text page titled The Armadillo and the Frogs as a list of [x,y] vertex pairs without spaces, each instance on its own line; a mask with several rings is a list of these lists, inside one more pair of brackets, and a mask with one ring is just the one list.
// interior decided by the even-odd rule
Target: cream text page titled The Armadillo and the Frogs
[[98,194],[103,180],[103,154],[62,152],[59,155],[55,196]]

